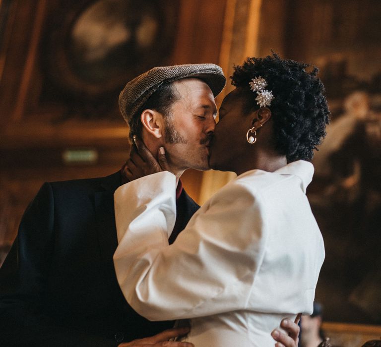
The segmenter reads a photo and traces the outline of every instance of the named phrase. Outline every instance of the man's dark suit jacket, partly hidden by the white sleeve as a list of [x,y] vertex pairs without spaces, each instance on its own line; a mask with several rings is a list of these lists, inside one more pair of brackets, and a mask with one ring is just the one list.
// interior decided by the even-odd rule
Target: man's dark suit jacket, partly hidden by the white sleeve
[[[117,346],[171,327],[139,316],[118,286],[120,185],[114,173],[41,187],[0,269],[0,346]],[[183,230],[199,206],[185,191],[177,203]]]

